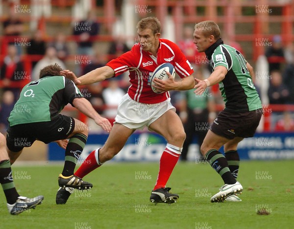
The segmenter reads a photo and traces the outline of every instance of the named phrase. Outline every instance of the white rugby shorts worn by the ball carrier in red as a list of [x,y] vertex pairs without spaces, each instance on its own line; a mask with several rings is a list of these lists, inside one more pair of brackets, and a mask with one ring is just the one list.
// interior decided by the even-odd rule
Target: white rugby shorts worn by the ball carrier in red
[[122,124],[130,129],[143,129],[170,109],[175,111],[171,98],[158,104],[143,104],[125,94],[119,103],[114,123]]

